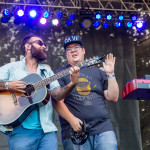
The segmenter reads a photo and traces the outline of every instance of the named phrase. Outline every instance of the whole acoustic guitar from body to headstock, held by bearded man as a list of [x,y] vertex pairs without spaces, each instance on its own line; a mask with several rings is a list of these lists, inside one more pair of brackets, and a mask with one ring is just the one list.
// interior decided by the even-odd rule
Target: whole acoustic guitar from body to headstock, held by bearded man
[[[93,57],[79,63],[79,68],[101,64],[102,57]],[[0,91],[0,124],[15,128],[19,126],[29,114],[39,107],[46,105],[50,99],[46,85],[69,74],[69,69],[62,70],[51,77],[42,79],[38,74],[32,73],[21,79],[26,83],[26,93],[10,90]]]

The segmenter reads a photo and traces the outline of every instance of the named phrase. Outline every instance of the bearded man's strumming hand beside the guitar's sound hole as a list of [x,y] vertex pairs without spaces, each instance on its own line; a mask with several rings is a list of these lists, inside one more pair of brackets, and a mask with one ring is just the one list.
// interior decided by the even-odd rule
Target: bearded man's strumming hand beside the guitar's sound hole
[[[6,82],[5,82],[5,84],[6,84]],[[26,83],[23,81],[8,81],[8,90],[25,93],[26,92],[24,90],[25,87],[26,87]],[[0,89],[4,90],[6,88],[2,87]]]

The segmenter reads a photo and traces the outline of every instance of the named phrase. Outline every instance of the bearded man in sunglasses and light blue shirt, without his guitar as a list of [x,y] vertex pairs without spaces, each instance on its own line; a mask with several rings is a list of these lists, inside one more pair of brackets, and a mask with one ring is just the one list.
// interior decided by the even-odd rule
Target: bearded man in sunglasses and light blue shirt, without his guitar
[[[40,63],[46,60],[46,45],[41,37],[29,34],[22,40],[21,50],[24,58],[21,61],[8,63],[0,67],[0,91],[26,93],[26,83],[19,81],[29,74],[39,74],[42,79],[54,73],[48,65]],[[60,87],[57,80],[50,83],[49,91],[53,99],[65,98],[78,82],[80,69],[70,69],[71,82]],[[29,99],[32,103],[32,99]],[[0,108],[2,109],[2,108]],[[16,128],[0,125],[0,130],[8,135],[10,150],[57,150],[57,128],[52,122],[52,105],[49,101],[39,109],[33,110],[26,120]]]

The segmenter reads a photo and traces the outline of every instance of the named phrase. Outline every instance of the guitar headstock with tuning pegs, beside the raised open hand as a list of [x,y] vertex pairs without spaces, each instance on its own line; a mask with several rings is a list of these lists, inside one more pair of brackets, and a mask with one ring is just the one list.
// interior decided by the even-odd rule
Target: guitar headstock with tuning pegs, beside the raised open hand
[[86,59],[83,61],[81,64],[83,67],[85,66],[98,66],[101,64],[101,60],[105,57],[105,55],[102,55],[101,57],[99,56],[94,56],[93,58]]

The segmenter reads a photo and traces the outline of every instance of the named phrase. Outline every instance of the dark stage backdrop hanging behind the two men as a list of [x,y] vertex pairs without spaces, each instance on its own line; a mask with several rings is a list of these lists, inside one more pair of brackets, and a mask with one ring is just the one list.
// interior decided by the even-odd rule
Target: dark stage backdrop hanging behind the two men
[[[117,135],[119,150],[141,150],[138,102],[121,99],[121,91],[125,84],[136,78],[135,49],[132,38],[129,38],[124,31],[107,29],[87,30],[79,27],[44,29],[1,23],[0,66],[22,58],[20,41],[25,34],[30,32],[40,34],[46,41],[48,59],[44,63],[48,63],[53,71],[67,64],[63,40],[70,34],[77,34],[81,37],[86,49],[86,58],[100,56],[102,53],[114,54],[120,96],[117,103],[107,103],[107,107]],[[55,111],[53,118],[58,127],[59,150],[62,150],[59,120]],[[8,150],[6,136],[2,133],[0,133],[0,150]]]

